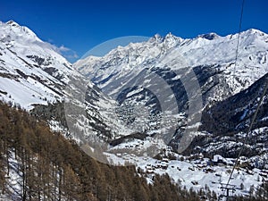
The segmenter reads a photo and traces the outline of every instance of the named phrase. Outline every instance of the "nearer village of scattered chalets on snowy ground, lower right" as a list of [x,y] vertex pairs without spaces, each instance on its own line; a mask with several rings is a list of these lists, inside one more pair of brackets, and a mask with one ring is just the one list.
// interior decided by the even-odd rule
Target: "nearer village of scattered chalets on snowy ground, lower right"
[[[247,157],[239,158],[239,165],[230,178],[230,184],[227,185],[233,165],[236,163],[234,158],[224,158],[222,155],[213,155],[211,158],[203,154],[178,155],[172,152],[172,147],[163,148],[163,152],[155,157],[147,153],[142,156],[137,155],[137,152],[131,153],[130,150],[134,149],[140,151],[146,143],[139,139],[131,143],[129,141],[128,144],[122,143],[119,145],[121,152],[116,155],[107,154],[107,156],[113,163],[137,165],[139,174],[146,177],[149,183],[153,182],[156,174],[168,174],[181,186],[197,191],[202,191],[206,187],[218,196],[226,189],[230,191],[230,195],[249,196],[257,186],[268,181],[268,171],[253,168],[248,163]],[[152,144],[154,143],[151,142]]]

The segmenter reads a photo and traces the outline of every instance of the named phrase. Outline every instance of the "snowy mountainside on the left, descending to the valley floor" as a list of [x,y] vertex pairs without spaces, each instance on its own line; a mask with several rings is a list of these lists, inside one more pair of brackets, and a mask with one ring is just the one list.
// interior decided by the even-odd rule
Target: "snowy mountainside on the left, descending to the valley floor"
[[[46,118],[54,130],[70,126],[72,130],[84,130],[83,134],[90,130],[94,135],[110,138],[121,128],[120,122],[113,119],[117,104],[84,80],[57,47],[14,21],[0,22],[0,100]],[[75,117],[64,113],[68,108],[64,100],[82,105],[88,122],[72,125]]]

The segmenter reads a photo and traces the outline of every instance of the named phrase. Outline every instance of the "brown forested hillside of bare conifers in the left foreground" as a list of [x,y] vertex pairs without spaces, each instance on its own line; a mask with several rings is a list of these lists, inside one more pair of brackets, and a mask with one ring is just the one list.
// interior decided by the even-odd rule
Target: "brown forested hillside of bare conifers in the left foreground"
[[6,200],[199,200],[168,176],[148,184],[133,166],[98,163],[46,122],[3,103],[0,145],[0,197]]

